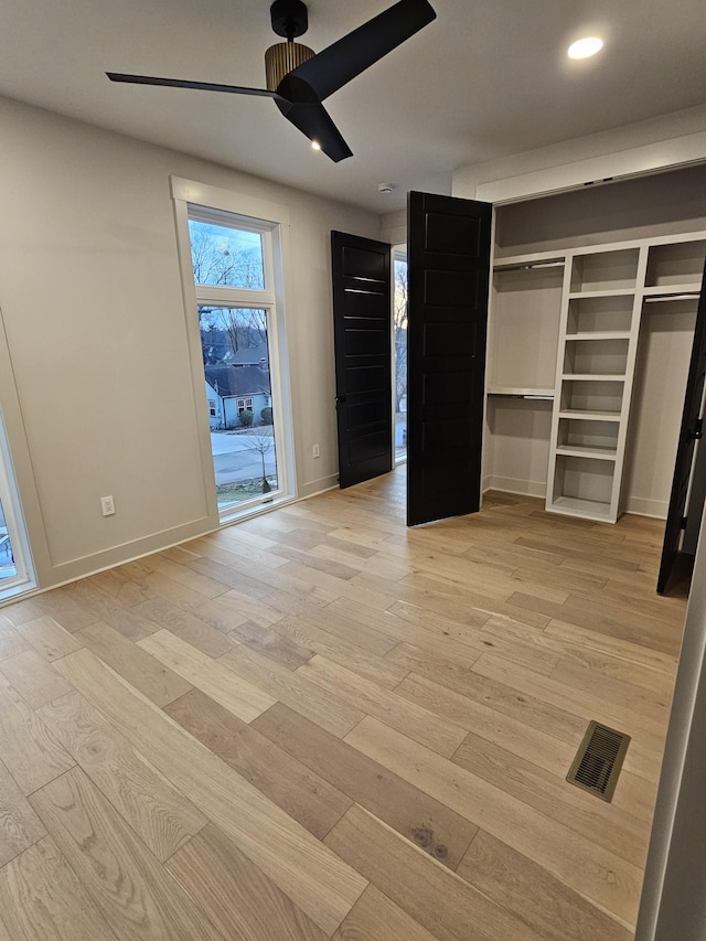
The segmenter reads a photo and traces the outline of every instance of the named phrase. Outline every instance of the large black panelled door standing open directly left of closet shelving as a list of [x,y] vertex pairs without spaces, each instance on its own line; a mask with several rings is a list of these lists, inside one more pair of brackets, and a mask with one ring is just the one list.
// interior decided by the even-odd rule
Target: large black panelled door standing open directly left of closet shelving
[[409,193],[408,526],[480,509],[491,215]]

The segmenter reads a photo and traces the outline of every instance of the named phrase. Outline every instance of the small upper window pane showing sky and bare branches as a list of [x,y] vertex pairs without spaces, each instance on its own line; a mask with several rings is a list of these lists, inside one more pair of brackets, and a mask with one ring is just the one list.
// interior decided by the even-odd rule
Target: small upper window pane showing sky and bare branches
[[189,235],[196,285],[265,288],[260,233],[191,218]]

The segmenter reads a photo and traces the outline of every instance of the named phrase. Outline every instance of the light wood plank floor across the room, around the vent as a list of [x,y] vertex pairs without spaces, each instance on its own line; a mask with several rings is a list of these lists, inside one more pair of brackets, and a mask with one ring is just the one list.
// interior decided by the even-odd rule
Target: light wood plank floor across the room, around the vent
[[[0,941],[628,941],[663,526],[404,472],[0,611]],[[595,718],[612,803],[565,782]]]

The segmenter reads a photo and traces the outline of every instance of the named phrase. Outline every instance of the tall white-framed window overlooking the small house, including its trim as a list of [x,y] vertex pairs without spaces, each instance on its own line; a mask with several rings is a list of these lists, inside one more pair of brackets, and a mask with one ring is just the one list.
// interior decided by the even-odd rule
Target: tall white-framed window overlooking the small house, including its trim
[[184,180],[172,179],[172,193],[192,356],[203,368],[201,414],[218,514],[227,522],[293,496],[282,311],[287,211],[261,203],[278,221],[245,215],[258,201]]

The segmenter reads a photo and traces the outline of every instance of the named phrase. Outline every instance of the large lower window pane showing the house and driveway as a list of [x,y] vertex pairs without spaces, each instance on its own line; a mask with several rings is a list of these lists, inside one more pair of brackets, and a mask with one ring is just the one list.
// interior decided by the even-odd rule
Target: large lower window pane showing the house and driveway
[[201,304],[199,321],[216,494],[224,509],[279,486],[267,311]]

